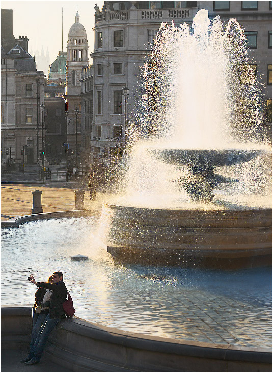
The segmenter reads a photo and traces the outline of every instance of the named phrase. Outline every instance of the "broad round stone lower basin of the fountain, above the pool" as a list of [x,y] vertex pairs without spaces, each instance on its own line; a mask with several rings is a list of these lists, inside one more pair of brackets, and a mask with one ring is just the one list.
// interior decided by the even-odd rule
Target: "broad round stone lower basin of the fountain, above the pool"
[[114,260],[234,270],[270,265],[272,210],[149,209],[104,204],[104,244]]

